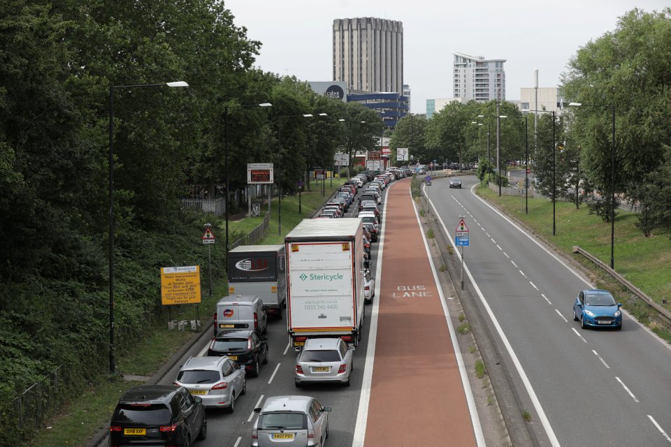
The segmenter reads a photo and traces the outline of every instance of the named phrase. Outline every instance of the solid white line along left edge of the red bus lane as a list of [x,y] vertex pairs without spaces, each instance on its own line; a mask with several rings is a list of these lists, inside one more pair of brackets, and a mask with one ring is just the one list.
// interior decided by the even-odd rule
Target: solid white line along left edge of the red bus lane
[[[410,187],[408,187],[410,190]],[[412,193],[411,193],[412,194]],[[356,411],[356,425],[352,437],[352,447],[363,447],[368,424],[368,404],[370,404],[370,388],[373,385],[373,365],[375,364],[375,344],[377,344],[377,312],[380,309],[380,285],[382,284],[382,252],[384,251],[384,230],[387,228],[387,201],[384,200],[382,214],[382,233],[377,248],[377,268],[375,268],[375,296],[373,311],[370,312],[370,330],[368,331],[368,349],[366,349],[366,365],[363,367],[359,410]]]

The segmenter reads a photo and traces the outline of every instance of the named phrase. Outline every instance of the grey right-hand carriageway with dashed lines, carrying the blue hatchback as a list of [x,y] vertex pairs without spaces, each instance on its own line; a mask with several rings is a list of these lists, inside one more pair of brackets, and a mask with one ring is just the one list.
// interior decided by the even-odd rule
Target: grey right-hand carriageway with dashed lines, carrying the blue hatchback
[[454,240],[465,216],[472,294],[516,375],[537,442],[669,446],[671,350],[625,315],[623,329],[581,330],[572,302],[593,284],[472,191],[433,182],[431,202]]

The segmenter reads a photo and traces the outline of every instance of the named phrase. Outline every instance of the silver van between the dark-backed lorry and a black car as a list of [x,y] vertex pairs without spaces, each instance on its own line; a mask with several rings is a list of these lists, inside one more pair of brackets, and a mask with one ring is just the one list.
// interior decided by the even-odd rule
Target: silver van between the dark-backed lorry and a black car
[[226,296],[217,302],[215,336],[220,330],[253,329],[268,332],[268,316],[264,302],[258,296]]

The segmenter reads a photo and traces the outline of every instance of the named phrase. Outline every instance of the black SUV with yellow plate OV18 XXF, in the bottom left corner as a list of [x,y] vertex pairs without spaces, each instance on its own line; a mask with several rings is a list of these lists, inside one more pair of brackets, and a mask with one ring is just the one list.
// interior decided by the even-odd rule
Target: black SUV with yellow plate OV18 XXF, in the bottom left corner
[[208,436],[203,400],[183,386],[140,385],[119,400],[110,422],[110,447],[188,447]]

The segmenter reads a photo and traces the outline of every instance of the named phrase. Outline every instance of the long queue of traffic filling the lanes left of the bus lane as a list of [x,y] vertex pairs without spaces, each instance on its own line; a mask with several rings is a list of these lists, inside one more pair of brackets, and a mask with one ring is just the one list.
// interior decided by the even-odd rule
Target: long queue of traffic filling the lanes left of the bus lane
[[284,244],[232,249],[211,339],[166,380],[122,395],[109,445],[351,444],[382,204],[413,174],[364,171]]

